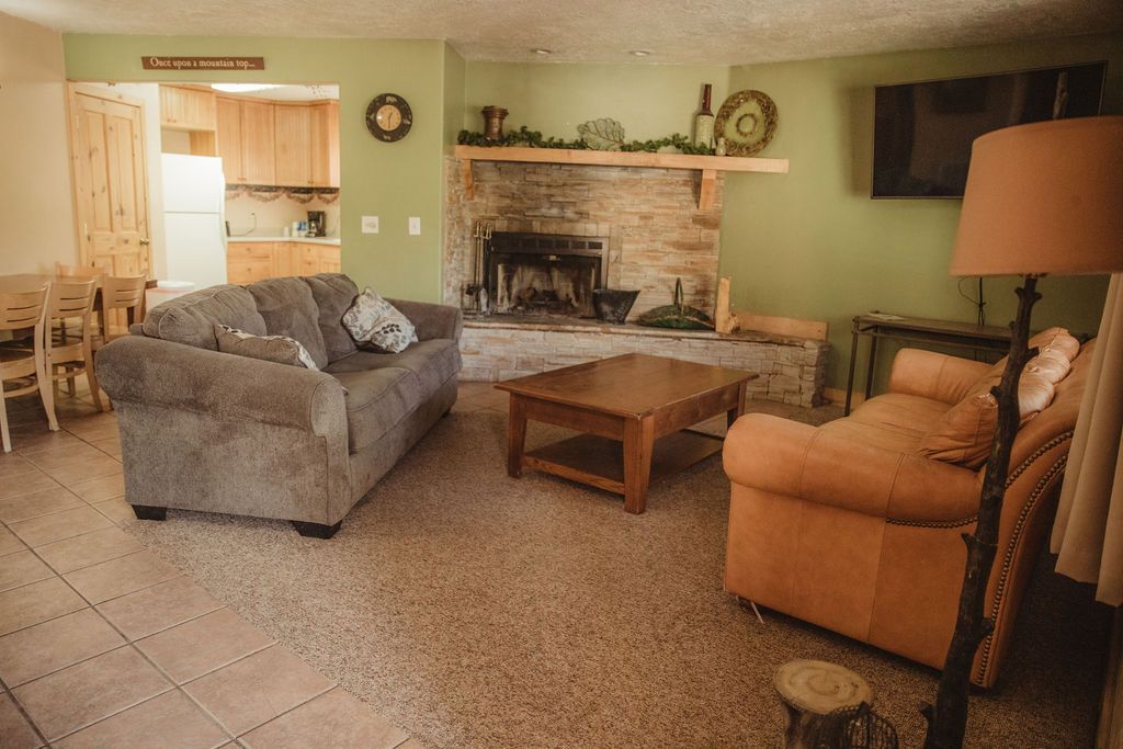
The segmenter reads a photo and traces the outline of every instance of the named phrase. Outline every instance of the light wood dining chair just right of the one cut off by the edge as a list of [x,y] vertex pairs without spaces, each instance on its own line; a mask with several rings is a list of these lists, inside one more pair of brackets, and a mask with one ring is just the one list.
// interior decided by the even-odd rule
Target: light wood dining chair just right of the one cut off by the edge
[[[56,384],[65,380],[67,392],[73,395],[74,377],[84,374],[93,404],[104,411],[93,367],[93,300],[97,293],[97,278],[56,281],[51,285],[44,350],[47,376]],[[55,320],[61,323],[76,321],[79,332],[67,332],[65,325],[53,332],[49,322]]]

